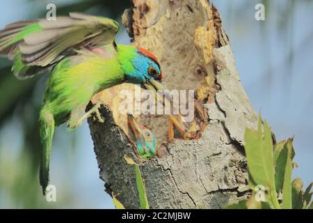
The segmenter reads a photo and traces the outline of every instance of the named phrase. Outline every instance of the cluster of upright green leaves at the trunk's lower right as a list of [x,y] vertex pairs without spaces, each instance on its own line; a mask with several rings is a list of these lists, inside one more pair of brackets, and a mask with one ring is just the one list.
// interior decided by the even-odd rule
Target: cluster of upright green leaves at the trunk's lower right
[[313,183],[305,192],[300,178],[291,183],[292,169],[296,167],[292,162],[295,156],[293,141],[288,139],[273,145],[271,128],[261,116],[257,130],[246,130],[245,151],[252,194],[247,201],[227,206],[228,209],[312,208]]

